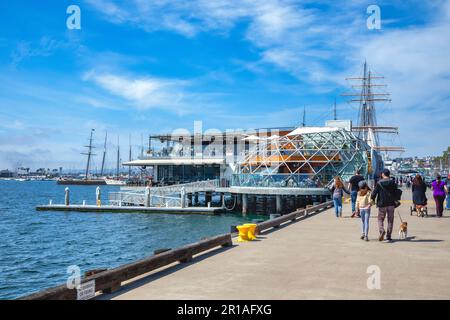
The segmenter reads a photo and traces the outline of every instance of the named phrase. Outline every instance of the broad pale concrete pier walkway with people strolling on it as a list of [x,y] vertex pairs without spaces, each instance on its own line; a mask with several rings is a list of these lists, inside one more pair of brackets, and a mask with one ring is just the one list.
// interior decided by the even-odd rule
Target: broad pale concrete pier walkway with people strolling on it
[[[408,197],[410,191],[404,191]],[[407,240],[398,240],[396,213],[391,243],[377,240],[376,213],[369,242],[359,239],[360,220],[336,218],[334,209],[280,229],[258,241],[211,251],[190,263],[151,273],[101,299],[449,299],[450,216],[436,218],[431,196],[428,218],[400,214]],[[433,203],[432,203],[433,202]],[[378,266],[380,289],[368,289]]]

